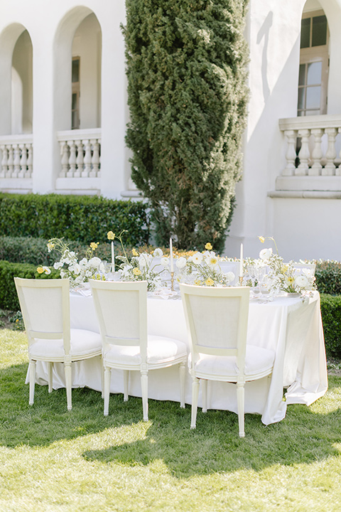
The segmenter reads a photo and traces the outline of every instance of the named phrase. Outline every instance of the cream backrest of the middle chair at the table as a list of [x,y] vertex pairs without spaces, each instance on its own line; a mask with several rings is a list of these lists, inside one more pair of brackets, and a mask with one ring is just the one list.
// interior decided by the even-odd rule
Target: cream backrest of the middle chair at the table
[[108,345],[140,346],[147,356],[147,282],[90,279],[104,351]]

